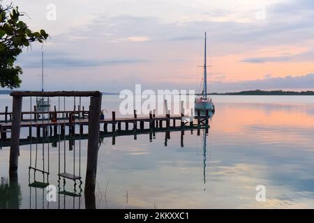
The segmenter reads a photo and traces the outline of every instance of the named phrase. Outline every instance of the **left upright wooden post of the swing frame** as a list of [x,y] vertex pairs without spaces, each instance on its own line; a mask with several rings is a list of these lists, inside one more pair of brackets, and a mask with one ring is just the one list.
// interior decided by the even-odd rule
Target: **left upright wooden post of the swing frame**
[[16,172],[18,166],[18,156],[20,153],[20,126],[22,114],[21,96],[13,97],[13,120],[11,130],[11,146],[10,146],[10,172]]

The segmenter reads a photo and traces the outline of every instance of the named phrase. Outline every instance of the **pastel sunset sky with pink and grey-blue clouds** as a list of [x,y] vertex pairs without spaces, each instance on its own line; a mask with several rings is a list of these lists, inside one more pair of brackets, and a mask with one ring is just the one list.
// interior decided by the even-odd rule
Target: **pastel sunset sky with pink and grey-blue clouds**
[[[10,3],[3,0],[2,4]],[[13,0],[47,43],[24,49],[22,90],[314,90],[313,0]],[[55,15],[55,17],[54,17]],[[55,19],[55,20],[54,20]]]

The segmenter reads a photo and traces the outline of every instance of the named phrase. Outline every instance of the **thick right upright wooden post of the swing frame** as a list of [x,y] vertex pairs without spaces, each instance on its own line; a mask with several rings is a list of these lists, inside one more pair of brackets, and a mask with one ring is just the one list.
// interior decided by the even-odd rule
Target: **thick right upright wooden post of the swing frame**
[[91,109],[89,110],[89,141],[87,146],[87,169],[85,180],[85,194],[95,192],[98,142],[100,131],[101,95],[91,97]]

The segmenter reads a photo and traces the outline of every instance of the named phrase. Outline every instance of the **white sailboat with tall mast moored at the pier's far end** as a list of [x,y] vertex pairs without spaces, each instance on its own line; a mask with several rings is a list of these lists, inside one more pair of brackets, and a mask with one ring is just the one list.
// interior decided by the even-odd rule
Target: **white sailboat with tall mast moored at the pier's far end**
[[195,110],[206,111],[209,110],[214,112],[214,103],[210,97],[207,95],[207,55],[206,55],[206,32],[205,32],[205,46],[204,46],[204,83],[202,95],[195,98]]

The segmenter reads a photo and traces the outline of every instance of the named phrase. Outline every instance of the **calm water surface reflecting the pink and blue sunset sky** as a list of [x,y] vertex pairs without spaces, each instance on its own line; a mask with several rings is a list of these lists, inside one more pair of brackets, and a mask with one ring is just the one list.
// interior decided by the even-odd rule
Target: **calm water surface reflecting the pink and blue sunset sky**
[[[215,96],[216,114],[207,135],[181,132],[103,139],[98,154],[97,208],[314,208],[314,97]],[[87,105],[87,101],[84,101]],[[68,103],[73,106],[73,102]],[[68,105],[67,104],[67,105]],[[11,106],[0,95],[0,109]],[[24,109],[29,107],[24,102]],[[110,113],[119,110],[119,98],[103,98]],[[26,137],[27,132],[22,132]],[[87,140],[75,141],[77,163],[81,144],[82,190]],[[167,146],[165,146],[167,144]],[[206,146],[204,147],[204,144]],[[41,158],[42,144],[38,144]],[[45,148],[47,148],[45,144]],[[50,146],[49,183],[58,185],[66,148],[66,169],[73,172],[73,151],[68,141]],[[60,146],[60,147],[59,147]],[[9,148],[0,151],[0,208],[85,208],[82,197],[57,196],[47,203],[42,189],[29,187],[30,147],[21,146],[17,182],[8,183]],[[38,158],[41,167],[42,160]],[[47,168],[47,155],[45,157]],[[78,164],[75,173],[78,173]],[[40,174],[36,180],[42,179]],[[266,201],[255,200],[255,187],[266,187]],[[61,182],[63,187],[63,182]],[[73,190],[66,182],[66,190]],[[78,187],[78,186],[77,186]],[[18,196],[13,196],[18,194]]]

